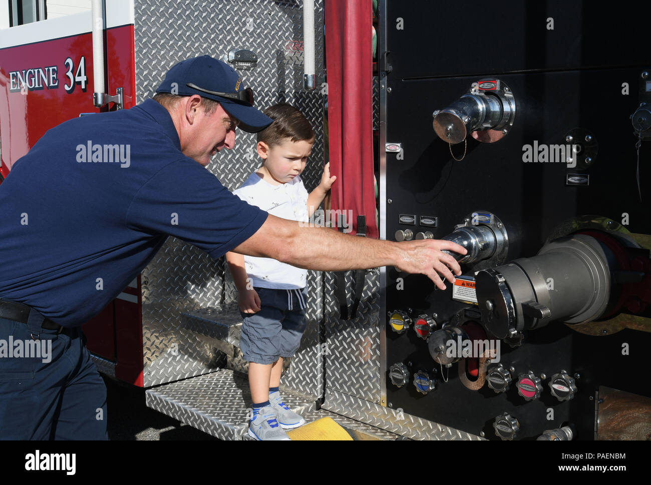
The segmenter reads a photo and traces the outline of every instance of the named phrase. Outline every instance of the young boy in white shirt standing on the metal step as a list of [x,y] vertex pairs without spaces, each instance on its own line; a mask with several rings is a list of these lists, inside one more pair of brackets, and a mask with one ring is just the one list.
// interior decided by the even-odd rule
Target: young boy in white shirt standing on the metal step
[[[288,104],[273,105],[264,113],[274,121],[258,133],[262,167],[234,194],[270,214],[307,222],[337,177],[330,176],[326,165],[319,186],[308,195],[300,174],[314,144],[312,127],[298,109]],[[249,362],[253,400],[249,436],[259,440],[289,439],[283,429],[297,428],[305,420],[284,404],[278,386],[283,359],[298,350],[305,330],[307,270],[270,258],[230,252],[226,260],[238,288],[244,319],[240,348]]]

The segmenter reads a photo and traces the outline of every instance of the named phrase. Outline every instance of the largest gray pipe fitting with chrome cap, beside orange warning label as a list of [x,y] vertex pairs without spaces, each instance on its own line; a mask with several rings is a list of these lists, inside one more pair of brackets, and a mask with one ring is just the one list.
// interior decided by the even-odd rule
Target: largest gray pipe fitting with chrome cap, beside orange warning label
[[573,234],[547,243],[533,258],[479,271],[482,323],[495,337],[517,344],[523,329],[595,320],[609,305],[613,266],[603,243]]

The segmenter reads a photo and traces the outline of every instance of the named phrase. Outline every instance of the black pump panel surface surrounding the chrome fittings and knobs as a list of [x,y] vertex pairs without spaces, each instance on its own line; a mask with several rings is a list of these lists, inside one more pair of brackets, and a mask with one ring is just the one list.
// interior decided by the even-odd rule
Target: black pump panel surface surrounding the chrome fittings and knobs
[[[386,141],[401,143],[403,150],[402,159],[396,153],[386,156],[386,194],[391,199],[386,204],[387,240],[395,240],[396,230],[404,229],[413,234],[429,230],[440,239],[477,210],[492,212],[505,224],[507,262],[536,255],[557,226],[581,215],[622,222],[628,214],[626,229],[651,234],[648,202],[640,201],[637,189],[637,136],[630,120],[639,105],[641,72],[651,67],[641,55],[646,31],[635,8],[606,12],[594,6],[549,1],[471,8],[387,0],[385,35],[393,69],[382,78],[391,89],[386,95]],[[553,31],[546,29],[549,17],[554,19]],[[398,18],[404,21],[403,29],[396,28]],[[500,79],[513,93],[514,124],[495,143],[467,137],[465,156],[456,161],[450,150],[461,158],[464,143],[450,146],[439,139],[432,112],[486,77]],[[630,94],[624,94],[624,83]],[[598,143],[588,168],[568,168],[563,160],[523,161],[527,145],[565,145],[566,135],[577,128]],[[651,144],[644,143],[639,162],[642,197],[651,180]],[[589,185],[566,185],[568,173],[589,175]],[[401,214],[417,215],[417,224],[401,224]],[[437,227],[419,226],[420,215],[438,217]],[[462,265],[462,270],[464,275],[475,271],[472,265]],[[440,328],[471,307],[452,301],[450,284],[446,286],[445,291],[434,290],[422,275],[387,268],[387,310],[411,309],[413,316],[436,312]],[[651,318],[651,310],[641,316]],[[444,382],[446,369],[434,362],[413,325],[398,335],[388,320],[387,371],[399,362],[411,370],[409,382],[400,388],[387,372],[390,406],[473,434],[484,432],[488,439],[499,439],[492,424],[505,411],[519,421],[516,439],[535,439],[564,422],[577,426],[577,439],[592,439],[594,392],[600,385],[651,395],[646,378],[639,376],[651,333],[626,329],[597,337],[560,322],[526,332],[518,348],[501,344],[501,363],[516,372],[510,390],[496,394],[487,385],[467,389],[459,379],[458,363],[447,369]],[[630,346],[628,355],[622,355],[624,343]],[[436,390],[417,392],[413,374],[418,370],[436,375]],[[527,370],[546,374],[540,398],[530,402],[516,389],[518,374]],[[579,374],[573,400],[559,402],[550,393],[549,378],[561,370]]]

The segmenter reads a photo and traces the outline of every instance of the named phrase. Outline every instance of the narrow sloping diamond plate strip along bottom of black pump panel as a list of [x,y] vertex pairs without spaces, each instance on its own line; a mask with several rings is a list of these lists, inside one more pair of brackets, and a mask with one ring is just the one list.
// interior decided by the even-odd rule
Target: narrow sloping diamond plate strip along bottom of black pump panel
[[326,400],[322,409],[343,414],[362,423],[376,426],[391,433],[411,439],[431,440],[482,440],[484,438],[464,431],[433,423],[401,412],[385,408],[363,399],[348,396],[326,388]]

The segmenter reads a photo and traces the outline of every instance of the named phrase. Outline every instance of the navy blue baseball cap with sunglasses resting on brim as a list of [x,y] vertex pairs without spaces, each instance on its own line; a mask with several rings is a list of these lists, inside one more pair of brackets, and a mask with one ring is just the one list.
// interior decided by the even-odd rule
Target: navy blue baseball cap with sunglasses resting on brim
[[257,133],[273,122],[253,107],[253,91],[243,87],[240,75],[226,62],[209,55],[175,64],[156,92],[179,96],[199,94],[217,101],[229,115],[240,120],[239,127],[245,132]]

